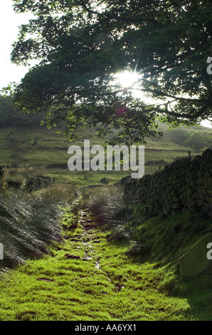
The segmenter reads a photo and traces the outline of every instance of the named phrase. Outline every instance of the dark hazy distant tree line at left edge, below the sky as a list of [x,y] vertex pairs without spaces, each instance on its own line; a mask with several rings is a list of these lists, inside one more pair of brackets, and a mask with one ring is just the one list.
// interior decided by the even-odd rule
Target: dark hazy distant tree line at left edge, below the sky
[[18,110],[11,96],[0,96],[0,128],[41,125],[41,120],[41,114]]

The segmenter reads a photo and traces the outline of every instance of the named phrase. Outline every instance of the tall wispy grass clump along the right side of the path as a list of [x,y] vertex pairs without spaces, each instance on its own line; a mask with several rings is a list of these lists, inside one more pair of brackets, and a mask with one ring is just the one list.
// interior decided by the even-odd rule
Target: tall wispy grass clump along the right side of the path
[[83,191],[81,202],[95,215],[100,225],[105,225],[110,230],[108,241],[127,240],[132,253],[139,253],[146,250],[137,232],[141,221],[132,217],[132,207],[123,195],[120,185],[95,187]]

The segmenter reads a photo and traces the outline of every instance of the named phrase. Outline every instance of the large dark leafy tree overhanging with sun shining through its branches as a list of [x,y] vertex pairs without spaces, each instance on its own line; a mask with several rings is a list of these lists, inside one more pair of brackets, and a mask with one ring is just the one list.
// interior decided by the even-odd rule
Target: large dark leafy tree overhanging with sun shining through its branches
[[[211,118],[210,0],[14,0],[14,9],[35,19],[21,26],[12,61],[41,60],[16,86],[16,103],[48,110],[48,125],[65,123],[70,138],[87,123],[132,144],[157,135],[157,118]],[[112,81],[129,68],[142,73],[137,86],[150,103]]]

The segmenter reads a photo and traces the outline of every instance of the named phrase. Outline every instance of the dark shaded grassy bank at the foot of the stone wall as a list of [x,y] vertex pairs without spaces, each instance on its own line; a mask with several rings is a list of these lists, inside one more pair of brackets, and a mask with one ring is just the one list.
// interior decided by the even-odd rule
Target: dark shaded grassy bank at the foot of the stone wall
[[[134,210],[132,217],[137,216]],[[201,212],[164,214],[136,226],[139,242],[151,249],[150,258],[167,264],[179,259],[198,239],[211,230],[211,220]]]

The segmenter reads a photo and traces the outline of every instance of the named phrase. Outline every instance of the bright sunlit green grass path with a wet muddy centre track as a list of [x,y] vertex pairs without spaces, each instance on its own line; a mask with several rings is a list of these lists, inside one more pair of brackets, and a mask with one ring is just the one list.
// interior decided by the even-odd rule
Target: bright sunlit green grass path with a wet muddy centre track
[[186,299],[159,291],[165,269],[132,262],[87,212],[63,220],[64,242],[51,255],[1,279],[1,320],[186,319]]

